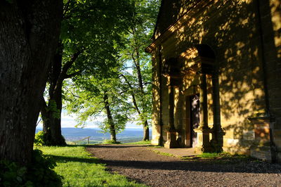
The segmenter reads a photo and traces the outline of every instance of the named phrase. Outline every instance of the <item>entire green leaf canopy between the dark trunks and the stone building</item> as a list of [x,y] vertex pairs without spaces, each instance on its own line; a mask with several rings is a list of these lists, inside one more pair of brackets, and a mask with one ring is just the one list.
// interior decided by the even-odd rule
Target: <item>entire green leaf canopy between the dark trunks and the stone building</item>
[[[77,47],[83,46],[84,51],[74,64],[76,69],[70,70],[82,73],[65,86],[66,109],[78,116],[77,126],[103,118],[100,129],[110,132],[113,123],[118,133],[129,119],[150,122],[152,70],[144,49],[150,44],[159,1],[70,1],[68,6],[62,35],[67,49],[64,59],[70,59]],[[105,94],[112,120],[105,112]]]

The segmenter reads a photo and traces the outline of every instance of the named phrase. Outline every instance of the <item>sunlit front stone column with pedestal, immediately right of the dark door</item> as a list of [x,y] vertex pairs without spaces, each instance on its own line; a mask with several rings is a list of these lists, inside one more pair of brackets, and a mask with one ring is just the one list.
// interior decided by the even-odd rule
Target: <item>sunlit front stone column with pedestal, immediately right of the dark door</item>
[[211,151],[209,134],[211,129],[208,126],[208,103],[207,103],[207,82],[206,74],[200,75],[200,125],[197,129],[197,152]]

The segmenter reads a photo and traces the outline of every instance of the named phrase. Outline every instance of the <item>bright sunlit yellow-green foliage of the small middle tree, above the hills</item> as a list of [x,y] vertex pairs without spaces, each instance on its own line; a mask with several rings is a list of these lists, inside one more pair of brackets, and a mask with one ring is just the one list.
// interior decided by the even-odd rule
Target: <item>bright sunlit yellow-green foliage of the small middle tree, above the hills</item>
[[[122,82],[117,76],[115,68],[109,67],[103,75],[77,77],[72,84],[68,84],[70,92],[67,95],[67,110],[77,113],[79,126],[84,126],[86,120],[95,121],[97,118],[102,118],[104,119],[102,122],[96,123],[103,132],[111,132],[113,124],[115,132],[119,133],[128,121],[127,93],[120,89]],[[112,119],[108,118],[107,104]]]

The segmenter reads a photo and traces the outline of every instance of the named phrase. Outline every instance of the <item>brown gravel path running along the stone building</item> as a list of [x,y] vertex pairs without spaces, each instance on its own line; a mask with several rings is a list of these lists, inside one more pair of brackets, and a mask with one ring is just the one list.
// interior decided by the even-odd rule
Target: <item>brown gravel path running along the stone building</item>
[[98,145],[87,150],[111,172],[148,186],[281,186],[281,165],[266,162],[186,161],[135,145]]

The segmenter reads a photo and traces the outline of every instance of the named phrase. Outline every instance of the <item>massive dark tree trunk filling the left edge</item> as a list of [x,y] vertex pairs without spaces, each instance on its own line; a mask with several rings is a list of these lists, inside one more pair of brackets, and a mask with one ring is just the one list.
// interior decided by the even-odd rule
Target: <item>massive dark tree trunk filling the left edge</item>
[[31,160],[63,1],[0,1],[0,160]]

